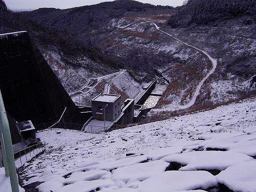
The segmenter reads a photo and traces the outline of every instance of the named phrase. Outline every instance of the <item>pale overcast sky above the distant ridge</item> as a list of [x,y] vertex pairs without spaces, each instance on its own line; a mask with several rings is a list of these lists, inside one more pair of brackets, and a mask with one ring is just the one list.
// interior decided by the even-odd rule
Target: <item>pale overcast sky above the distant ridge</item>
[[[97,4],[113,0],[4,0],[9,9],[32,10],[40,7],[70,8],[88,4]],[[144,3],[178,6],[184,0],[137,0]]]

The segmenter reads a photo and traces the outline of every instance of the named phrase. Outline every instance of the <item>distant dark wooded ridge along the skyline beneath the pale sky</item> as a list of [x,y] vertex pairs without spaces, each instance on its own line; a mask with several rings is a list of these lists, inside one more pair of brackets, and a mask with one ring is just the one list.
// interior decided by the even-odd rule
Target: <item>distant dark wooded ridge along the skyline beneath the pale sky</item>
[[134,0],[116,0],[95,5],[80,6],[69,9],[39,8],[31,12],[23,12],[31,20],[45,27],[83,38],[86,32],[103,27],[113,18],[136,15],[172,7],[144,4]]

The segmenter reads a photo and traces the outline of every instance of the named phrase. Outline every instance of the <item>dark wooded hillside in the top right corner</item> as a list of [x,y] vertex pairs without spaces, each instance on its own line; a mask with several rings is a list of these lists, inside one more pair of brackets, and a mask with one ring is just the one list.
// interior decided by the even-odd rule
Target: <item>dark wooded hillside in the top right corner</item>
[[173,28],[191,24],[208,24],[244,16],[244,24],[254,22],[256,0],[189,0],[168,19]]

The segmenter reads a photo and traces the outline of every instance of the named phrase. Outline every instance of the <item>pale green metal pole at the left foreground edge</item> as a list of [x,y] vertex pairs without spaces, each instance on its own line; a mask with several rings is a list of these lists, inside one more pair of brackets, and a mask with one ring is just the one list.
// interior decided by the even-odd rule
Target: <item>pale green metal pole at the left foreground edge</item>
[[11,137],[10,137],[9,122],[8,122],[6,111],[4,108],[1,90],[0,90],[0,127],[2,130],[3,145],[5,148],[5,153],[6,153],[6,157],[7,157],[11,190],[12,190],[12,192],[18,192],[18,190],[19,190],[18,189],[18,178],[17,178],[17,173],[16,173],[16,167],[14,164],[14,155],[13,155],[13,148],[12,148],[12,142],[11,142]]

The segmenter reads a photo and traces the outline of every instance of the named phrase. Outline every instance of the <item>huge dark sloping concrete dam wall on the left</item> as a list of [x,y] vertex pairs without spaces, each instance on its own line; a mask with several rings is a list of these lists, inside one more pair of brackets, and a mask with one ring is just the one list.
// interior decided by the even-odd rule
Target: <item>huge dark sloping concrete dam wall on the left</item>
[[[75,105],[27,32],[0,34],[0,47],[0,89],[8,117],[30,119],[40,130],[56,122],[66,107],[61,119],[69,123],[65,128],[80,130],[91,113]],[[10,129],[18,142],[15,121]]]

